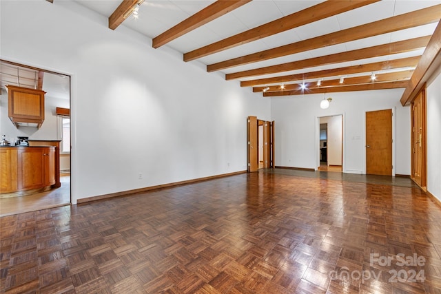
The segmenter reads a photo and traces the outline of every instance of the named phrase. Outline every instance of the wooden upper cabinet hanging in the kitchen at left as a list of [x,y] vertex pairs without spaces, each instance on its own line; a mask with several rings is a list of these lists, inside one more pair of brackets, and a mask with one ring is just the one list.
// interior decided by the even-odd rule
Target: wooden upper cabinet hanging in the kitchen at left
[[42,90],[8,85],[8,113],[16,126],[41,127],[44,120],[44,94]]

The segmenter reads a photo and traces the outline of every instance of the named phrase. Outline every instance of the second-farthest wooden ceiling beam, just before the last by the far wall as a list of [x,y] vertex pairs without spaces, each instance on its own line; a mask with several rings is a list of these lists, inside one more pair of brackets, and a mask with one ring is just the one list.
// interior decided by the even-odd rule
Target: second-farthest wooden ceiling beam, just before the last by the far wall
[[[355,76],[351,78],[344,78],[343,83],[340,83],[340,78],[333,80],[322,81],[321,85],[318,86],[316,82],[314,83],[305,83],[308,89],[317,89],[320,87],[345,87],[348,85],[362,85],[362,84],[370,84],[370,83],[382,83],[382,82],[393,82],[393,81],[404,81],[409,80],[411,78],[413,70],[402,70],[400,72],[389,72],[386,74],[376,74],[375,82],[372,82],[371,76]],[[298,90],[300,85],[298,83],[292,84],[283,84],[284,91],[292,91]],[[263,92],[265,87],[253,87],[253,92]],[[271,85],[269,86],[269,90],[266,92],[280,92],[282,90],[280,85]]]

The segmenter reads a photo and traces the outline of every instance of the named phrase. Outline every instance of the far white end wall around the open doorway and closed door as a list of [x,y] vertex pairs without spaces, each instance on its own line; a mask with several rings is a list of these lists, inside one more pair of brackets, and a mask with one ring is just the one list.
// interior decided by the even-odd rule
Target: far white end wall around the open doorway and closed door
[[318,117],[342,114],[343,171],[365,174],[365,113],[393,109],[395,174],[409,175],[410,110],[402,107],[403,89],[333,93],[328,109],[320,109],[323,94],[274,97],[271,119],[276,121],[276,165],[315,169],[318,162]]

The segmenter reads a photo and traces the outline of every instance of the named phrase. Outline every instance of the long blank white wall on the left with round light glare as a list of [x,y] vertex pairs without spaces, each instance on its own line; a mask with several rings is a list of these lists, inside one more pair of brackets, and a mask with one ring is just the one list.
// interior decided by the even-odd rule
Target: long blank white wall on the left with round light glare
[[72,202],[246,169],[268,98],[72,1],[0,6],[2,59],[72,76]]

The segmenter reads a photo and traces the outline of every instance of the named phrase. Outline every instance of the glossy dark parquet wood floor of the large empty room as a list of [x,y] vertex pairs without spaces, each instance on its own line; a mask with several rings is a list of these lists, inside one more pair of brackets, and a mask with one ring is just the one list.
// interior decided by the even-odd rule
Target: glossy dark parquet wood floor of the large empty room
[[1,293],[441,293],[416,187],[260,172],[0,226]]

